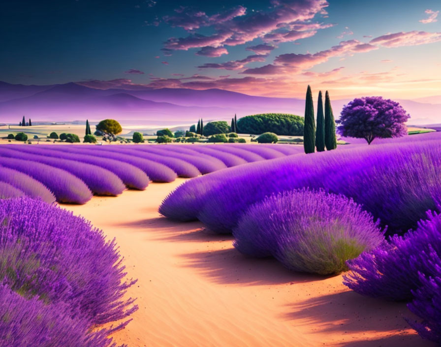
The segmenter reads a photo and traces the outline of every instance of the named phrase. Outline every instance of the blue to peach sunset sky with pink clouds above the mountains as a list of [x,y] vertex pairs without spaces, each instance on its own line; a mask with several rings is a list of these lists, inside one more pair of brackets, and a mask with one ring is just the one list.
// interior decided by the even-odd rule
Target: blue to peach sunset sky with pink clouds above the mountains
[[441,95],[440,10],[440,0],[5,0],[0,80]]

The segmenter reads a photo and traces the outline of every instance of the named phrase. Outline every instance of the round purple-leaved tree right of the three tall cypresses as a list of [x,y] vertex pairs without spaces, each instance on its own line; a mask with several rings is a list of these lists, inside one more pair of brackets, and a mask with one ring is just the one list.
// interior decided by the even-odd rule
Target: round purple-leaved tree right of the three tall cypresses
[[343,107],[338,133],[351,138],[398,138],[407,134],[404,123],[410,118],[397,102],[382,97],[363,97]]

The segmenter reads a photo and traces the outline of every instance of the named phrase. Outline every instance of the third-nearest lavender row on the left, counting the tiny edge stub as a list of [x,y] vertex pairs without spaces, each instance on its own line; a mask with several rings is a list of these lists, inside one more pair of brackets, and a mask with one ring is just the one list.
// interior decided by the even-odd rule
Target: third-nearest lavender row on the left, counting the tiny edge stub
[[67,171],[29,160],[1,157],[1,166],[30,175],[48,187],[60,203],[85,204],[92,192],[81,179]]

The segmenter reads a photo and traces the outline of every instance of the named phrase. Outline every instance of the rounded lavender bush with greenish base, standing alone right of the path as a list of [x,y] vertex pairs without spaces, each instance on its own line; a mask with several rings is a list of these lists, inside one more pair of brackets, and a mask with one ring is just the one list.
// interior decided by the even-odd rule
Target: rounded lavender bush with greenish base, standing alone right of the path
[[293,190],[249,208],[233,230],[233,244],[247,255],[273,255],[294,271],[338,274],[348,259],[383,242],[378,225],[343,195]]

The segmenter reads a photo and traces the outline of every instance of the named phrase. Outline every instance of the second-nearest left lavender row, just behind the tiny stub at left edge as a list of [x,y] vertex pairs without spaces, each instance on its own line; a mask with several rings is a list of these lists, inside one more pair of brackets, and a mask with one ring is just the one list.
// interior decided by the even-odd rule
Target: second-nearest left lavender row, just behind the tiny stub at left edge
[[46,203],[55,202],[54,194],[41,182],[17,170],[0,165],[0,180],[20,189],[32,198],[38,198]]

